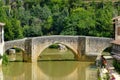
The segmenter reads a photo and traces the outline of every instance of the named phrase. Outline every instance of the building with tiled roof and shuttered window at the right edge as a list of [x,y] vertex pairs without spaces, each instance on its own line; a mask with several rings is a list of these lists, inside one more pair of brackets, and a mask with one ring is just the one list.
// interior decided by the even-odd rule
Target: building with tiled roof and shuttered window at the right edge
[[120,62],[120,16],[113,18],[114,41],[112,41],[112,56]]

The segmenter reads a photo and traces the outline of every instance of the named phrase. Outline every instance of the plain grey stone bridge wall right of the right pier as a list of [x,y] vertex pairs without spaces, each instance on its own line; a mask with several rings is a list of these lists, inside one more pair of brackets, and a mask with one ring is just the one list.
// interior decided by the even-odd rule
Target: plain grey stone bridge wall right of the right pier
[[103,52],[103,50],[111,46],[110,42],[112,40],[112,38],[104,37],[86,37],[86,55],[100,55]]

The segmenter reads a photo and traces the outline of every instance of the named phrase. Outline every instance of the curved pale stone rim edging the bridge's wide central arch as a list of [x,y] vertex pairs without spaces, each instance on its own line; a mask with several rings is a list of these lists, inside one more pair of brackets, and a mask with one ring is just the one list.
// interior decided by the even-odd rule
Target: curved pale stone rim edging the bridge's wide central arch
[[66,46],[68,49],[70,49],[73,53],[73,55],[75,56],[75,59],[78,59],[80,57],[80,55],[78,54],[77,50],[75,50],[71,45],[69,44],[65,44],[64,42],[54,42],[54,43],[48,43],[47,45],[42,47],[42,50],[38,53],[38,55],[36,56],[38,59],[38,56],[46,49],[48,48],[50,45],[52,44],[62,44],[64,46]]

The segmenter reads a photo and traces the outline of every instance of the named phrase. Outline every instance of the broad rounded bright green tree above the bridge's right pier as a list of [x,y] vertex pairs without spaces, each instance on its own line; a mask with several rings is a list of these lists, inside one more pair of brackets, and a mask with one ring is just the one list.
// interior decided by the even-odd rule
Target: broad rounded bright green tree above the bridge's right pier
[[[95,27],[94,13],[84,8],[75,8],[66,20],[64,29],[73,30],[74,35],[88,35],[89,30]],[[64,32],[63,32],[64,33]]]

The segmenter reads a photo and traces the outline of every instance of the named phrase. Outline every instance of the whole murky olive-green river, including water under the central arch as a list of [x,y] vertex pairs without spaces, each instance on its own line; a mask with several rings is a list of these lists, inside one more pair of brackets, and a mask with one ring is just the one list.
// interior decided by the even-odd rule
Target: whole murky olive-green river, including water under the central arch
[[76,61],[70,50],[46,49],[37,63],[17,59],[0,68],[0,80],[97,80],[94,62]]

